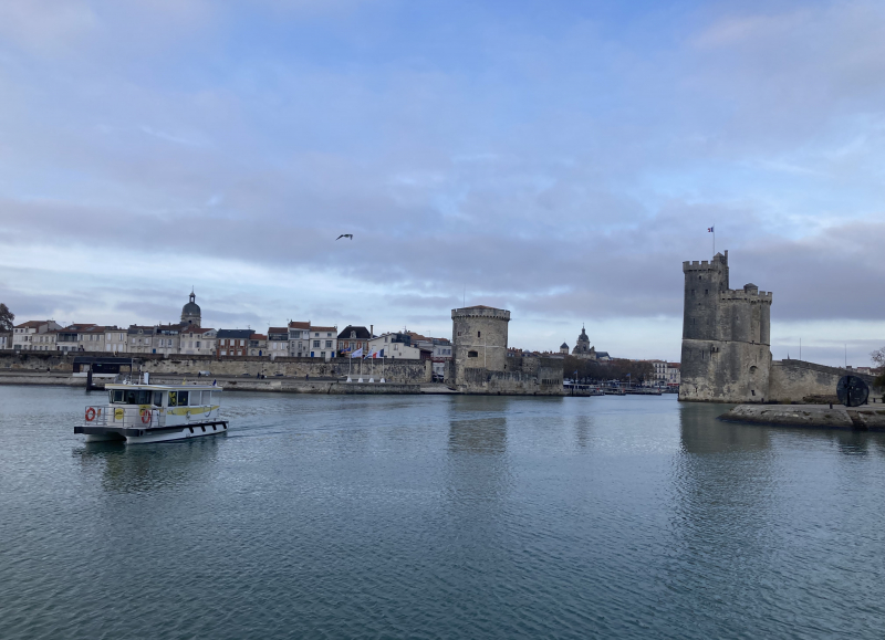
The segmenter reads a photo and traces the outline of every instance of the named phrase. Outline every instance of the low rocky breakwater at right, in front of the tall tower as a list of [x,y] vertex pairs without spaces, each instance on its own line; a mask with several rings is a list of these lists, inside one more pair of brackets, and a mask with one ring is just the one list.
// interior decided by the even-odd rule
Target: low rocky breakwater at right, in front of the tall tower
[[719,416],[726,422],[751,422],[818,429],[885,431],[885,405],[738,405]]

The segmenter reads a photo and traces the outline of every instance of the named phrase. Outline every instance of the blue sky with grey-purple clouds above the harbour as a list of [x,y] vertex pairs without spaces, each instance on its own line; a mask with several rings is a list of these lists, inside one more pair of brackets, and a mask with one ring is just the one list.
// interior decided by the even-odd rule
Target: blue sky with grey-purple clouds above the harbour
[[678,360],[711,225],[775,359],[885,346],[885,3],[0,0],[17,321]]

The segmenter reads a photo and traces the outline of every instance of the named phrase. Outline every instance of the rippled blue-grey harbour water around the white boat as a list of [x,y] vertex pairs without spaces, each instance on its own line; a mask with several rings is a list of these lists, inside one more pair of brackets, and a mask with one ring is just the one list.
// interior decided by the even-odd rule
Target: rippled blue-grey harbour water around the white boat
[[883,637],[881,434],[228,394],[229,433],[126,448],[86,402],[0,387],[2,638]]

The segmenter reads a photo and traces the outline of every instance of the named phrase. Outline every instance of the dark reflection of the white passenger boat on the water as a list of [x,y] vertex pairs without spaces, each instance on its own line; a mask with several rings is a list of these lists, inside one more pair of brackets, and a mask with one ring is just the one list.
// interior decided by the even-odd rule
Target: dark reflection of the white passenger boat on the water
[[98,471],[101,485],[111,493],[149,493],[192,482],[210,469],[219,439],[195,438],[181,442],[133,444],[91,442],[72,451],[85,471]]

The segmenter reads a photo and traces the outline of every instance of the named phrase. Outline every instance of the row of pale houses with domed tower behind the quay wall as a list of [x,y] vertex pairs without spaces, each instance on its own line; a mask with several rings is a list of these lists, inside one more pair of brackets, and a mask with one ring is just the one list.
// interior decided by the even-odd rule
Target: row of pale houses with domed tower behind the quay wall
[[71,324],[62,327],[54,321],[30,321],[0,334],[0,349],[15,352],[103,352],[106,354],[156,354],[212,356],[219,359],[244,357],[320,358],[363,356],[393,359],[427,359],[434,371],[442,375],[451,358],[447,338],[427,337],[414,332],[374,334],[374,325],[314,325],[312,322],[289,322],[269,327],[267,333],[253,329],[223,329],[201,326],[201,313],[190,294],[177,324],[102,326]]

